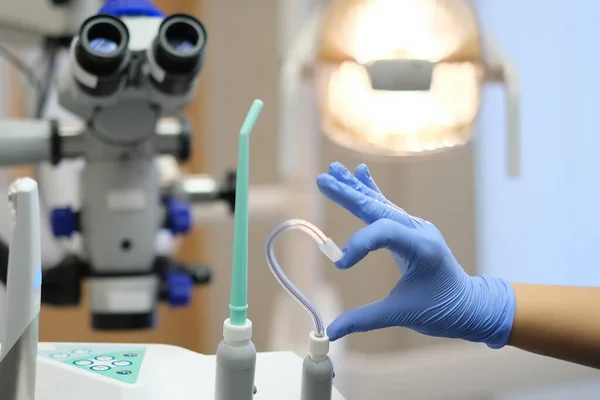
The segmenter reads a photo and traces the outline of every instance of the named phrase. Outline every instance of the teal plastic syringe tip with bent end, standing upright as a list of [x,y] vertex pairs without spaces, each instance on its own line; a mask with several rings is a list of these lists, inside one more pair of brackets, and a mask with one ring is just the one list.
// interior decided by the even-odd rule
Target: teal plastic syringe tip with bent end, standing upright
[[250,134],[262,112],[263,102],[254,100],[240,129],[235,184],[233,233],[233,269],[229,320],[233,325],[246,323],[248,313],[248,184],[250,180]]

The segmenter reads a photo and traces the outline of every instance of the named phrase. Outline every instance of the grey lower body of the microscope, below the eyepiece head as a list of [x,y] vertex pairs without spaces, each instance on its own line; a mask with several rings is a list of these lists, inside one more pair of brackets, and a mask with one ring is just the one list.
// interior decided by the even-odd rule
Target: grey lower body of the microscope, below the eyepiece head
[[153,325],[161,283],[153,268],[155,242],[165,214],[158,188],[147,151],[124,160],[87,158],[79,230],[89,265],[92,323],[98,329]]

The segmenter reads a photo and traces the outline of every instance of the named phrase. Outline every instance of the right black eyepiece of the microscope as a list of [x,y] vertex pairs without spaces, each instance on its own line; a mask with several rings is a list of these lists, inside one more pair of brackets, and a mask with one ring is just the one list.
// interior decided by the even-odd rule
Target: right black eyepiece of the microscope
[[165,18],[150,49],[157,86],[169,94],[189,91],[204,61],[206,29],[187,14]]

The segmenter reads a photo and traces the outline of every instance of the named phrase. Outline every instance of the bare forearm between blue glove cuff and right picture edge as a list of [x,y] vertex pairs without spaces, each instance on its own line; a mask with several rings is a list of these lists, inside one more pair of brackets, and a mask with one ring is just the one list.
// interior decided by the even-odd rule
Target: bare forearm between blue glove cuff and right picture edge
[[514,283],[511,346],[600,369],[600,288]]

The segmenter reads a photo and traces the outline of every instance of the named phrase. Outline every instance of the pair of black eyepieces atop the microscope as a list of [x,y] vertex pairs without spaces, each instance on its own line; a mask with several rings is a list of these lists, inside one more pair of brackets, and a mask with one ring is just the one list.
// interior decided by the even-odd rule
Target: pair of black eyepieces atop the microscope
[[[143,24],[135,29],[145,30]],[[155,31],[136,32],[152,34]],[[78,70],[75,78],[84,90],[94,96],[115,93],[137,58],[160,91],[169,95],[189,91],[202,68],[206,45],[206,29],[199,20],[187,14],[165,18],[143,51],[132,52],[130,39],[125,22],[111,15],[95,15],[81,25],[72,51]]]

